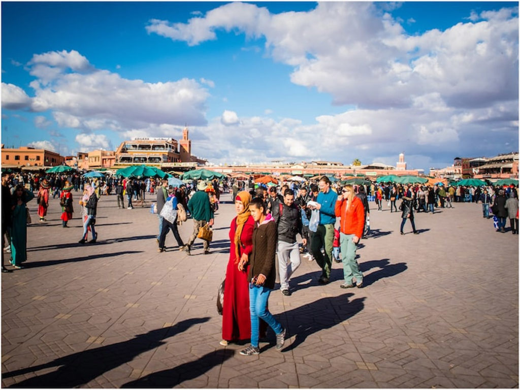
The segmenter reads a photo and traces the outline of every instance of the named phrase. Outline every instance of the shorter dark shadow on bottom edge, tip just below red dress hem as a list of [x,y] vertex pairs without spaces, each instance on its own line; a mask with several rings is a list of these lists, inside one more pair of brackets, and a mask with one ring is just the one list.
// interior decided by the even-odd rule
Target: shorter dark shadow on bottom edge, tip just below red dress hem
[[213,367],[222,365],[234,354],[235,351],[232,349],[217,349],[200,359],[167,370],[153,372],[135,381],[125,383],[121,388],[172,388],[184,381],[198,378]]

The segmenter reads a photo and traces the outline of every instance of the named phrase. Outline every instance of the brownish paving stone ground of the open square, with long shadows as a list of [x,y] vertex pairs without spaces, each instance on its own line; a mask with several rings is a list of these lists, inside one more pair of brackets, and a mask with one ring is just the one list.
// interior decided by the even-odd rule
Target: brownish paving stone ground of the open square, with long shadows
[[211,254],[196,241],[192,256],[171,234],[158,253],[157,215],[114,196],[98,204],[98,242],[80,245],[79,213],[64,229],[51,200],[48,222],[28,227],[26,267],[2,274],[2,386],[518,387],[518,236],[495,232],[480,205],[417,214],[420,234],[408,224],[404,236],[400,214],[372,211],[358,250],[366,287],[340,289],[336,263],[319,285],[304,258],[293,295],[269,300],[286,346],[270,333],[244,357],[218,344],[234,216],[221,200]]

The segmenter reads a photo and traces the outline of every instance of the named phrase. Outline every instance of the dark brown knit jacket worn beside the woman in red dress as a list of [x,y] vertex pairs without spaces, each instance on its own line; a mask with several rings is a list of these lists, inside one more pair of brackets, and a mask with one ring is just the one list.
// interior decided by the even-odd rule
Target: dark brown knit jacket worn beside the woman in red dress
[[265,275],[264,286],[268,289],[275,288],[277,232],[276,223],[273,221],[255,227],[253,230],[253,252],[250,256],[248,281],[259,274]]

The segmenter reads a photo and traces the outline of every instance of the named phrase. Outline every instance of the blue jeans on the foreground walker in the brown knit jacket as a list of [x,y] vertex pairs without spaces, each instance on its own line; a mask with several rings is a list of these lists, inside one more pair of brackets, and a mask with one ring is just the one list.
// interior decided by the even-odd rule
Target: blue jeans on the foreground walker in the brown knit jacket
[[283,331],[283,327],[280,325],[269,310],[267,310],[267,300],[271,290],[264,286],[257,286],[249,284],[249,311],[251,314],[251,345],[258,348],[258,327],[262,318],[267,324],[275,331],[276,334],[280,334]]

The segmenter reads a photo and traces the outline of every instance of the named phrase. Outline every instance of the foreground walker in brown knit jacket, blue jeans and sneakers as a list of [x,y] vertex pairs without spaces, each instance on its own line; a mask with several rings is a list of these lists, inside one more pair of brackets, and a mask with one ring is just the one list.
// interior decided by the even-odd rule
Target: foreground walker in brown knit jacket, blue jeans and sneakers
[[[285,329],[269,313],[267,301],[271,290],[275,287],[276,269],[275,254],[277,243],[277,228],[271,214],[265,214],[264,201],[255,198],[249,204],[251,216],[255,220],[253,230],[253,251],[250,255],[249,267],[249,311],[251,314],[251,345],[240,351],[241,355],[258,355],[258,326],[263,319],[276,334],[276,349],[282,349],[285,342]],[[245,268],[248,259],[241,259],[238,269]]]

